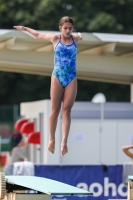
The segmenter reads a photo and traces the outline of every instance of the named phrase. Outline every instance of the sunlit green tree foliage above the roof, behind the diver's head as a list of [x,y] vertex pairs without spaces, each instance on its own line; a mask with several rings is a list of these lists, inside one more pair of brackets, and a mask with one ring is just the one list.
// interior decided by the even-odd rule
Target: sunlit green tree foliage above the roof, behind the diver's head
[[58,30],[62,16],[72,16],[81,32],[133,33],[133,0],[0,0],[0,28],[24,25]]

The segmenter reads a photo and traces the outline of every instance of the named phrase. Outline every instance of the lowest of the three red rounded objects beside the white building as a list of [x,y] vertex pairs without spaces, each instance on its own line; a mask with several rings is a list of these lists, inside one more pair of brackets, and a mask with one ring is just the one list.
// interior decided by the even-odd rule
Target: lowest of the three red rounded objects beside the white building
[[40,132],[32,132],[28,135],[29,144],[40,144]]

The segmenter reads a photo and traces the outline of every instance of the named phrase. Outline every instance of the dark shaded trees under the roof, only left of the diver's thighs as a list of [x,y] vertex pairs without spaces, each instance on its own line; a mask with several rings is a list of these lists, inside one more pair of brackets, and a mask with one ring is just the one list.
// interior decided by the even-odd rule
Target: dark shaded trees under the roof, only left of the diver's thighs
[[50,77],[0,72],[0,104],[50,98]]

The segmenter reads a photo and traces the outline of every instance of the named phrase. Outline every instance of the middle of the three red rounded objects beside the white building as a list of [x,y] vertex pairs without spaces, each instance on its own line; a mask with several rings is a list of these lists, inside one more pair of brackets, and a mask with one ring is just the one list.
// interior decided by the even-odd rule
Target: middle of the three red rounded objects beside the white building
[[34,131],[34,122],[25,122],[20,128],[20,132],[24,134],[29,134],[33,131]]

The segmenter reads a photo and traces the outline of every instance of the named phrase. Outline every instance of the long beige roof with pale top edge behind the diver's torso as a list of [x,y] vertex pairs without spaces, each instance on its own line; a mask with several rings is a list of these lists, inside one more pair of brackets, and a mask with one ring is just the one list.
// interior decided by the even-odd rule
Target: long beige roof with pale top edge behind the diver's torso
[[[40,33],[59,33],[39,31]],[[133,35],[82,33],[78,43],[79,79],[130,84],[133,82]],[[54,66],[52,43],[31,34],[0,30],[0,70],[51,75]]]

